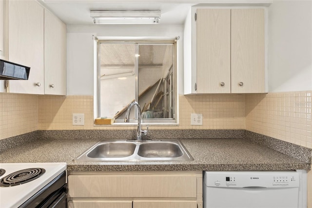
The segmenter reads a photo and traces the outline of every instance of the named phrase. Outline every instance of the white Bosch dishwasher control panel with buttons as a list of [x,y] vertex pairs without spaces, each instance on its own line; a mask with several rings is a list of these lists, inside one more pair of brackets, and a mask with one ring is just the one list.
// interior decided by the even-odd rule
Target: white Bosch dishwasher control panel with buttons
[[204,176],[208,187],[299,187],[295,171],[209,172]]

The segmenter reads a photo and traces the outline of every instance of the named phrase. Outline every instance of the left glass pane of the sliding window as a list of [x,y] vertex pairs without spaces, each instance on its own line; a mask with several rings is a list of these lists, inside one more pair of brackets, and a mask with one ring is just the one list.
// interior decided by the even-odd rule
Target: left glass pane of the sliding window
[[100,44],[100,116],[113,118],[135,98],[135,44]]

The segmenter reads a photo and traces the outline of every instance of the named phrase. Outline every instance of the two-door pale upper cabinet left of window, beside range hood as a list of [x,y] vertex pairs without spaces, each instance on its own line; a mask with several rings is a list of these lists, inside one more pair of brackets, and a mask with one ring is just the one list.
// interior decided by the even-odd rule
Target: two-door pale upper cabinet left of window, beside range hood
[[36,0],[8,2],[8,60],[29,66],[7,92],[66,95],[66,25]]

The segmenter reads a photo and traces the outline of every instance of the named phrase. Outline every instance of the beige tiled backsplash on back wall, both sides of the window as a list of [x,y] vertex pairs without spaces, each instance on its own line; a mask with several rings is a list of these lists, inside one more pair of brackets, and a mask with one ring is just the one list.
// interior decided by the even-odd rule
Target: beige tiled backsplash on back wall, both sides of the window
[[[178,126],[150,129],[245,129],[243,95],[179,96]],[[136,126],[94,126],[93,96],[39,96],[39,129],[136,129]],[[84,113],[84,125],[73,125],[72,114]],[[191,113],[203,114],[203,125],[191,125]]]

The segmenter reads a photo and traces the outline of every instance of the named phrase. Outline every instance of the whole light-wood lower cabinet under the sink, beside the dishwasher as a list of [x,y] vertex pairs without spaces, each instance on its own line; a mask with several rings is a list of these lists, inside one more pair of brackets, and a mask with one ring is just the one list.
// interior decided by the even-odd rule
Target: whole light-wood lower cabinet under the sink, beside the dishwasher
[[70,172],[68,207],[202,208],[202,172]]

